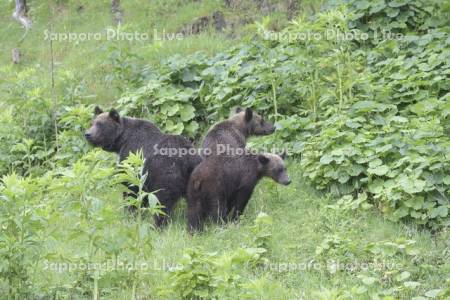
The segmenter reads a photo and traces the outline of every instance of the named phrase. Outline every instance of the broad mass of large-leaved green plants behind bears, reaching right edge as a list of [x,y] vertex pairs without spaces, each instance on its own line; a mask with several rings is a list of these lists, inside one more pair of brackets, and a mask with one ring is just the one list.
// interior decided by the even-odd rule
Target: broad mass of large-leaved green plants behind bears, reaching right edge
[[[304,176],[317,188],[365,192],[392,220],[448,224],[450,46],[439,27],[446,8],[417,0],[350,1],[348,9],[299,19],[278,39],[255,39],[211,59],[176,56],[148,67],[147,83],[118,103],[197,138],[232,107],[252,106],[278,130],[251,145],[284,144],[302,155]],[[403,38],[323,38],[383,24]],[[305,32],[322,38],[298,38]]]

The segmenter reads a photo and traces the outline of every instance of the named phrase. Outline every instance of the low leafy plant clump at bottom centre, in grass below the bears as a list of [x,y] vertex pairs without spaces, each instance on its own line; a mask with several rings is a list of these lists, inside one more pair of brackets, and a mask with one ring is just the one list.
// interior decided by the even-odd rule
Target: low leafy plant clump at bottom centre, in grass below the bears
[[[181,266],[173,271],[170,290],[161,292],[178,291],[181,299],[251,299],[252,295],[260,294],[257,282],[246,280],[243,273],[267,260],[264,255],[269,250],[271,225],[272,219],[267,214],[257,216],[251,228],[254,248],[241,247],[222,254],[188,249],[180,261]],[[276,289],[271,285],[264,287]]]

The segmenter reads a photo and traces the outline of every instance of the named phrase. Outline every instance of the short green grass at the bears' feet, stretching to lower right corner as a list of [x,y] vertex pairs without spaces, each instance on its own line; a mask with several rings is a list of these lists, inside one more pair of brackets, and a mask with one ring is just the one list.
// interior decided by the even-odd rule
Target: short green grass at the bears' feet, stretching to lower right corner
[[[349,291],[364,285],[357,279],[362,274],[379,278],[380,286],[395,286],[396,283],[386,279],[392,274],[410,272],[412,275],[408,280],[418,281],[423,286],[419,291],[403,294],[406,298],[443,286],[444,278],[450,271],[444,264],[450,258],[448,234],[432,236],[428,231],[413,226],[386,221],[372,210],[361,213],[329,208],[328,205],[336,204],[336,199],[321,195],[302,182],[301,170],[295,161],[290,163],[288,169],[293,177],[292,184],[283,187],[263,180],[238,224],[212,226],[205,234],[191,238],[185,231],[184,210],[181,210],[174,224],[155,236],[158,241],[155,243],[156,257],[177,261],[186,247],[219,252],[234,249],[249,240],[249,227],[253,220],[259,212],[266,212],[274,219],[270,265],[266,269],[249,272],[248,276],[254,279],[266,277],[271,282],[278,282],[287,289],[285,295],[291,299],[310,299],[314,296],[312,291]],[[335,243],[328,244],[328,250],[317,254],[318,247],[328,238],[334,239]],[[371,243],[392,241],[401,244],[404,240],[416,241],[414,249],[419,253],[417,256],[400,251],[392,257],[387,254],[383,257],[365,250]],[[395,266],[382,272],[377,272],[376,267],[364,270],[363,263],[373,263],[377,259],[379,264]],[[426,262],[430,269],[418,266],[415,260]],[[334,273],[327,267],[331,266],[332,261],[342,264],[343,268],[344,265],[355,265],[361,269]],[[157,280],[154,284],[157,285]],[[366,297],[361,295],[361,298]],[[267,295],[263,298],[270,299]],[[278,299],[282,296],[279,295]]]

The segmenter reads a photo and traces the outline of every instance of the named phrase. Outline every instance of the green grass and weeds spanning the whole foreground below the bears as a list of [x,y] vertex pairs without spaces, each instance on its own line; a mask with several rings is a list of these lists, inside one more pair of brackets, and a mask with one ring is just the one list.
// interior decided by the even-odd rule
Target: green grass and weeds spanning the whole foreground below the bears
[[294,161],[288,167],[293,185],[262,182],[239,223],[194,237],[184,205],[162,232],[150,216],[139,225],[124,213],[102,151],[43,178],[4,177],[2,290],[57,299],[445,298],[448,234],[336,202],[302,183]]

